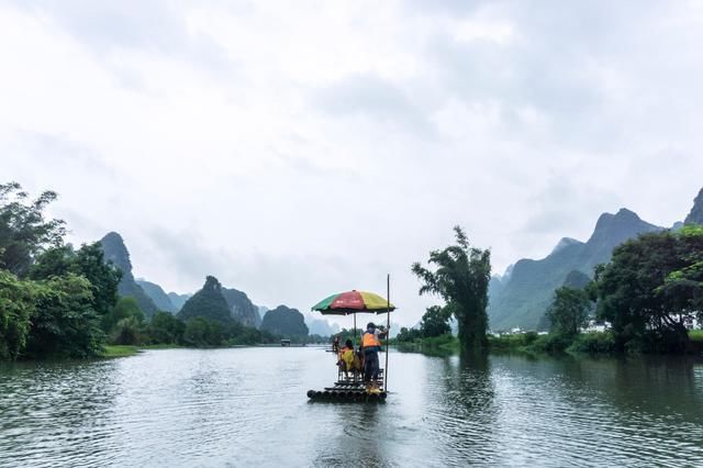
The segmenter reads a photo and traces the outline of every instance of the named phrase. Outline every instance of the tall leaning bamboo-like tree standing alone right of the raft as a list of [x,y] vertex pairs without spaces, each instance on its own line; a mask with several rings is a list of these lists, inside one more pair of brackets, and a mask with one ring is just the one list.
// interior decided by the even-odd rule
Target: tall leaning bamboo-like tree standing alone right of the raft
[[[420,263],[412,271],[423,282],[420,294],[442,297],[454,311],[459,325],[459,342],[465,350],[488,346],[488,283],[491,279],[491,252],[471,247],[460,226],[455,226],[456,245],[429,253],[428,268]],[[431,266],[436,270],[432,271]]]

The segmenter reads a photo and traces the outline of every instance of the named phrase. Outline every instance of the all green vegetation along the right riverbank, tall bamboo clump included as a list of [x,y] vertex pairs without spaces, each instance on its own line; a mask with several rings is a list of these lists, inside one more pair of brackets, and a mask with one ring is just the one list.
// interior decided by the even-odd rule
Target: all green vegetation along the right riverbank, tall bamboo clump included
[[[420,294],[435,294],[445,305],[427,308],[419,328],[401,328],[397,342],[405,347],[535,354],[702,350],[703,225],[688,223],[623,242],[607,264],[593,268],[592,279],[581,272],[579,281],[565,281],[554,291],[542,320],[548,334],[500,336],[488,333],[486,314],[490,250],[471,247],[459,226],[455,233],[455,245],[429,253],[434,271],[412,266],[422,283]],[[458,325],[456,343],[443,338],[450,333],[451,317]],[[582,333],[590,321],[605,331]]]

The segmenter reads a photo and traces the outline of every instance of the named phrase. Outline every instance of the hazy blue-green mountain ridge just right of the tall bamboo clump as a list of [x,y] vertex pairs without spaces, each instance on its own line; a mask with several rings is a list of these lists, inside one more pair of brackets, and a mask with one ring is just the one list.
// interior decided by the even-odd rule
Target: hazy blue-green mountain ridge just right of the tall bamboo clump
[[615,214],[603,213],[585,243],[565,237],[547,257],[518,260],[506,280],[491,279],[488,309],[491,328],[538,327],[554,290],[563,285],[569,274],[580,271],[592,277],[593,267],[609,261],[614,247],[638,234],[662,229],[621,209]]

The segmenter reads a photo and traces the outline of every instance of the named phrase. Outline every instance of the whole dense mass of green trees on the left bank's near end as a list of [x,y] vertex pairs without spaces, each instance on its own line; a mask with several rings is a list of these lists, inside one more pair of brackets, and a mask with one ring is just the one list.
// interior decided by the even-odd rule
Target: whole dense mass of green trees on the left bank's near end
[[96,245],[64,244],[64,222],[44,218],[55,198],[30,200],[18,183],[0,186],[0,359],[101,352],[99,323],[118,299],[120,275]]

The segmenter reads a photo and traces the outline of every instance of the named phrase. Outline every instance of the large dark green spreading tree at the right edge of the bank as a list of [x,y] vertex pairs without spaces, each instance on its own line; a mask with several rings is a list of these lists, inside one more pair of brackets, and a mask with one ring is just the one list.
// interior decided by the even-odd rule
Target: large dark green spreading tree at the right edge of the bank
[[618,349],[684,352],[685,322],[703,319],[703,227],[646,234],[615,248],[596,269],[599,315]]

